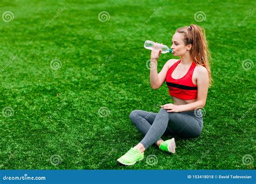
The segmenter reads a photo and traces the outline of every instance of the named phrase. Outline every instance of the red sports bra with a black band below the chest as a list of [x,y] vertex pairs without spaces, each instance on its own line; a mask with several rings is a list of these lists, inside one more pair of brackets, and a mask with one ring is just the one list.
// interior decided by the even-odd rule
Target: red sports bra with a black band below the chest
[[181,60],[175,62],[166,73],[166,84],[169,88],[169,94],[182,100],[192,100],[197,98],[197,85],[192,82],[192,75],[196,63],[192,63],[188,72],[180,79],[173,79],[172,72]]

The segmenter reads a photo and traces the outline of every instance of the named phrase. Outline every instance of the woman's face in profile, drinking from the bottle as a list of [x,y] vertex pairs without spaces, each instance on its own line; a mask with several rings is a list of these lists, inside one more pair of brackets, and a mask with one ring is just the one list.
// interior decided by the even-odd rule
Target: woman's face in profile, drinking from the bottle
[[184,43],[183,33],[175,33],[172,37],[172,53],[174,56],[184,55],[187,51],[190,50],[190,47],[186,46]]

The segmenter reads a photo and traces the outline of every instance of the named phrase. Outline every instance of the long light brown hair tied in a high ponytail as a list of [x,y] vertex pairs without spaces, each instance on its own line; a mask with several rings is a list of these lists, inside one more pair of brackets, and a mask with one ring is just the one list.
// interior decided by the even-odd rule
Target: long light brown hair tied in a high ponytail
[[185,45],[191,44],[190,55],[197,65],[204,66],[208,71],[209,87],[212,86],[212,76],[209,61],[211,54],[205,36],[205,30],[198,25],[191,24],[188,27],[180,27],[176,30],[178,33],[184,34]]

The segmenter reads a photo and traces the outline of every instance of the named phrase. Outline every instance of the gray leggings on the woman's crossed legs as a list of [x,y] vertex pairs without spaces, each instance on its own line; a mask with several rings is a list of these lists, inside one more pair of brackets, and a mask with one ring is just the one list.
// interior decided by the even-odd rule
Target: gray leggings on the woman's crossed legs
[[158,113],[133,110],[130,119],[145,136],[140,143],[145,148],[157,143],[164,134],[180,138],[198,137],[203,130],[201,110],[167,112],[161,108]]

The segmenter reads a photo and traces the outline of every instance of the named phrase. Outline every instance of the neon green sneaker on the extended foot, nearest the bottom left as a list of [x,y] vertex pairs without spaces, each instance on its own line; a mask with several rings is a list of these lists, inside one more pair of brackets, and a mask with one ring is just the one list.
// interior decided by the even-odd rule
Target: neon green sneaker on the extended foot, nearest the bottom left
[[131,148],[122,157],[117,159],[120,164],[131,166],[137,161],[144,159],[144,153],[141,153],[138,148]]

